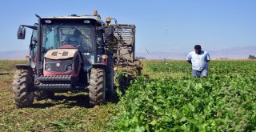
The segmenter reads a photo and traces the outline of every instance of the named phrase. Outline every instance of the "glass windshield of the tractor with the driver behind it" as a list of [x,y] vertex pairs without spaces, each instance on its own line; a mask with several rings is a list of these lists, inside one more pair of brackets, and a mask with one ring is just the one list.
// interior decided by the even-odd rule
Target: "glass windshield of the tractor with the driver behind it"
[[94,26],[92,25],[63,22],[42,26],[44,53],[51,49],[62,48],[64,45],[78,48],[82,53],[94,53],[93,38]]

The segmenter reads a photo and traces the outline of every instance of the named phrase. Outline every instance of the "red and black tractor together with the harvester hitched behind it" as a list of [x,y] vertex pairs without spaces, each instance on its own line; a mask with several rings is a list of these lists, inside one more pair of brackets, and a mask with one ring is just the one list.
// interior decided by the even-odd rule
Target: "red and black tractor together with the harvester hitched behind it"
[[25,38],[26,28],[32,29],[32,36],[29,64],[15,65],[16,106],[28,107],[34,98],[68,91],[87,91],[90,105],[101,105],[114,95],[118,67],[140,73],[141,67],[134,63],[134,25],[118,24],[115,18],[103,22],[97,10],[91,15],[35,15],[38,23],[18,28],[18,39]]

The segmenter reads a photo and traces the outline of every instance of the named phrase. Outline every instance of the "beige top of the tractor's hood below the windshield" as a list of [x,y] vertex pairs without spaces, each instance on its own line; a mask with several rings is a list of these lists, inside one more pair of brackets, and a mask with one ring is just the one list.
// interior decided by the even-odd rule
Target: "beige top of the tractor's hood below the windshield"
[[45,58],[66,59],[73,58],[76,54],[78,54],[77,49],[54,49],[47,51]]

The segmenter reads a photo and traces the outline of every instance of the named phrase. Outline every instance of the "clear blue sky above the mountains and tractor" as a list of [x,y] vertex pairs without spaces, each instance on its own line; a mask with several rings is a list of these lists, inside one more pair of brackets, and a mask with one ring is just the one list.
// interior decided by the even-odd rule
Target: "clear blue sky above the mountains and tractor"
[[255,0],[3,0],[0,8],[0,51],[28,50],[26,40],[17,39],[18,26],[42,17],[98,14],[118,23],[135,24],[136,51],[187,53],[194,45],[203,50],[256,46]]

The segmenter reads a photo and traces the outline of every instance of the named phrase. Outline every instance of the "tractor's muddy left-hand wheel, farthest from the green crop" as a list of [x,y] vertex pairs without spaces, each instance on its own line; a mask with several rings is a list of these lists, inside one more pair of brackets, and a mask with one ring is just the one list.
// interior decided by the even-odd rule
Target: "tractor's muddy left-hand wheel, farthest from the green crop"
[[34,102],[34,91],[30,91],[33,86],[32,70],[19,69],[16,70],[13,81],[13,98],[14,103],[18,107],[31,106]]

